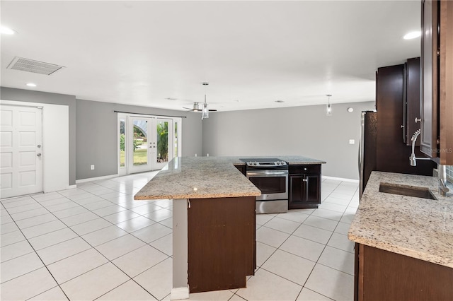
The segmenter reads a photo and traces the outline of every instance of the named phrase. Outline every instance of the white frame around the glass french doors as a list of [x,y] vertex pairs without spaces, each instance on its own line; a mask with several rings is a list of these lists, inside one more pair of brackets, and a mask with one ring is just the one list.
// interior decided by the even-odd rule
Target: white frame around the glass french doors
[[[127,134],[127,132],[129,131],[128,129],[128,126],[129,126],[129,119],[130,118],[133,118],[133,117],[138,117],[138,118],[152,118],[152,119],[169,119],[169,120],[172,120],[172,125],[171,125],[171,129],[173,131],[172,133],[172,138],[171,138],[171,141],[175,142],[173,140],[173,138],[175,138],[173,135],[175,134],[175,126],[176,124],[178,124],[177,126],[177,143],[178,145],[175,146],[173,143],[172,143],[172,147],[173,147],[173,158],[176,158],[176,157],[180,157],[183,153],[183,148],[182,148],[182,133],[183,133],[183,118],[182,117],[169,117],[169,116],[164,116],[164,115],[151,115],[151,114],[130,114],[130,113],[121,113],[121,112],[118,112],[117,113],[117,174],[119,176],[124,176],[124,175],[130,175],[131,174],[131,171],[130,171],[130,163],[129,163],[129,160],[128,160],[128,154],[127,154],[127,150],[129,150],[132,146],[130,146],[130,143],[128,143],[128,140],[127,137],[125,137],[125,166],[124,167],[121,167],[120,166],[120,128],[121,128],[121,120],[124,120],[125,121],[125,133]],[[170,126],[169,126],[170,127]],[[176,149],[176,152],[175,152],[175,147],[177,148]],[[168,160],[170,161],[172,158],[169,158]],[[151,165],[152,167],[152,165]],[[158,169],[161,169],[162,167],[159,167]],[[154,170],[154,169],[153,169]]]

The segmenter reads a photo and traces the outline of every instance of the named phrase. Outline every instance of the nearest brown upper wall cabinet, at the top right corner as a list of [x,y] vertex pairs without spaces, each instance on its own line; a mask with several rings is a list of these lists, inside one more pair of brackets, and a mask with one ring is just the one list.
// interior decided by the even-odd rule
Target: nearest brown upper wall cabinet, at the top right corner
[[422,1],[420,151],[453,165],[453,1]]

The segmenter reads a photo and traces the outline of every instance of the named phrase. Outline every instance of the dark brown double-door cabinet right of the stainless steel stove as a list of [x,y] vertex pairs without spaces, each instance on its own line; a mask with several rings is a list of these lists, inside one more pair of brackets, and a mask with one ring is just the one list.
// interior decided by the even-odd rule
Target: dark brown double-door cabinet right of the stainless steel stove
[[321,164],[289,165],[288,208],[318,208],[321,203]]

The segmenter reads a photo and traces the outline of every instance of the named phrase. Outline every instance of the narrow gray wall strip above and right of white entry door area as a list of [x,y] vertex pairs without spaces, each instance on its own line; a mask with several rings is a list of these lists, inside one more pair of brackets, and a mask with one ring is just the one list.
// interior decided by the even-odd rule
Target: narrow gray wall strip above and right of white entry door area
[[76,97],[56,93],[0,87],[2,100],[69,106],[69,185],[76,184]]

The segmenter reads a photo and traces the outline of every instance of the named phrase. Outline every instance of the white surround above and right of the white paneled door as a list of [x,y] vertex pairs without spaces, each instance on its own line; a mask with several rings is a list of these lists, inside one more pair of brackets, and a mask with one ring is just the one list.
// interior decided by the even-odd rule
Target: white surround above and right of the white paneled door
[[0,100],[0,105],[42,107],[42,191],[69,189],[69,106]]

